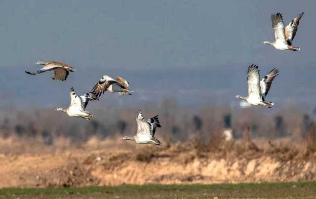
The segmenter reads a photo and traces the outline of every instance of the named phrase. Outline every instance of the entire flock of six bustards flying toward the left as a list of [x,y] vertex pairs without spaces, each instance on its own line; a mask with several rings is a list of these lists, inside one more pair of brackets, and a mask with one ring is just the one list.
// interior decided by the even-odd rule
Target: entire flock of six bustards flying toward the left
[[[297,28],[300,23],[300,19],[304,15],[304,12],[296,16],[286,27],[284,26],[282,14],[276,13],[271,16],[272,28],[275,35],[275,41],[264,41],[263,43],[274,46],[277,50],[300,50],[299,47],[292,46],[292,41],[296,36]],[[68,64],[61,62],[51,61],[42,62],[37,61],[36,64],[43,65],[39,71],[32,73],[26,71],[29,75],[37,75],[46,71],[53,71],[53,80],[67,80],[69,72],[75,72],[76,69]],[[261,105],[271,108],[274,103],[266,101],[267,94],[271,88],[272,81],[278,75],[278,70],[273,69],[262,80],[260,80],[260,70],[255,64],[251,64],[247,71],[247,84],[248,95],[242,97],[237,95],[236,97],[247,101],[251,105]],[[93,115],[86,109],[89,101],[99,100],[99,97],[105,93],[105,91],[118,93],[119,97],[122,95],[131,95],[134,91],[129,90],[129,82],[122,77],[117,76],[116,80],[103,76],[92,88],[90,92],[87,92],[81,96],[77,95],[74,88],[70,91],[70,105],[68,108],[56,108],[57,111],[67,113],[69,117],[84,118],[90,120]],[[145,120],[142,112],[140,111],[137,122],[137,132],[133,137],[124,136],[122,140],[133,140],[138,144],[156,144],[161,145],[161,142],[156,139],[155,132],[157,127],[161,127],[158,116]]]

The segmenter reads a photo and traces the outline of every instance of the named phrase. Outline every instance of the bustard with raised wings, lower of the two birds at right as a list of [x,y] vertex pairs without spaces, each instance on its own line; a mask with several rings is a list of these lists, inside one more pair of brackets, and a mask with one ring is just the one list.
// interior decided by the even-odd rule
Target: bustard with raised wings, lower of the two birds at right
[[248,95],[247,97],[242,97],[240,95],[237,95],[236,97],[246,100],[252,105],[262,105],[271,108],[274,103],[267,102],[265,98],[270,90],[272,81],[277,75],[278,70],[273,69],[260,81],[258,66],[254,64],[250,65],[247,72]]

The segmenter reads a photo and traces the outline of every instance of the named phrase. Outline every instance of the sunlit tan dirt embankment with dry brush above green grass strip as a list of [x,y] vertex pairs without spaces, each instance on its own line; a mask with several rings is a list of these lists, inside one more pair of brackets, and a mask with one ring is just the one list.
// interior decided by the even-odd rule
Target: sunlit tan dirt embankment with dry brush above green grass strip
[[100,146],[0,154],[0,188],[316,180],[316,153],[294,146]]

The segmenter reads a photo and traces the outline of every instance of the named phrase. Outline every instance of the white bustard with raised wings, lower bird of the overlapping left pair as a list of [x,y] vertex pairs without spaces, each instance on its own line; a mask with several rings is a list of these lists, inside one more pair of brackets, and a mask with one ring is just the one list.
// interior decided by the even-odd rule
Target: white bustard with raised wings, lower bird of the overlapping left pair
[[72,87],[69,95],[71,99],[69,107],[67,109],[56,108],[56,110],[67,113],[69,117],[77,117],[90,120],[93,116],[88,111],[86,111],[85,108],[88,105],[89,101],[99,100],[96,93],[88,92],[84,95],[79,96],[76,94],[74,88]]

